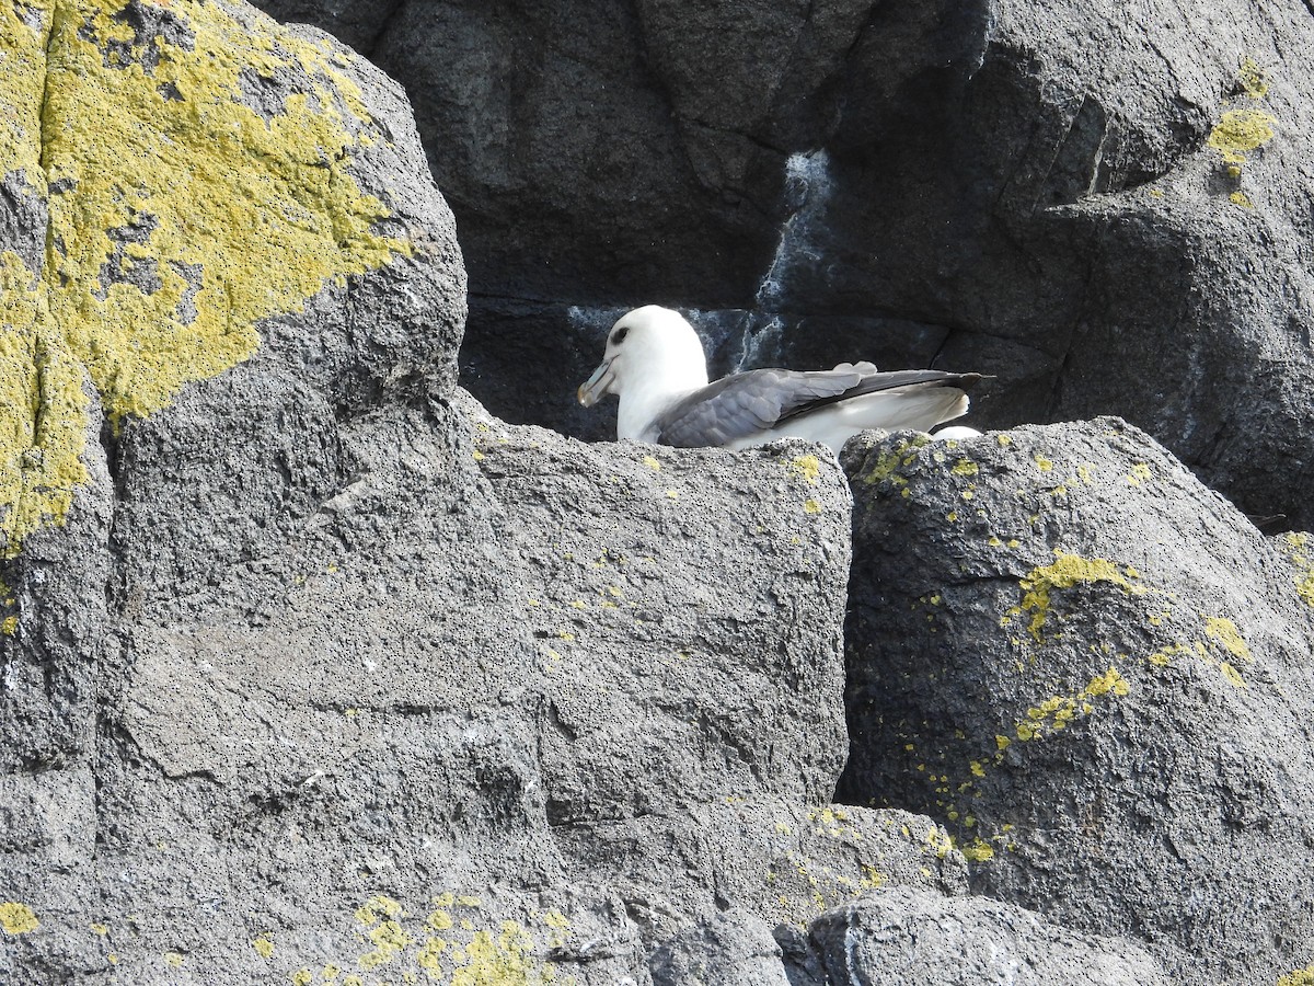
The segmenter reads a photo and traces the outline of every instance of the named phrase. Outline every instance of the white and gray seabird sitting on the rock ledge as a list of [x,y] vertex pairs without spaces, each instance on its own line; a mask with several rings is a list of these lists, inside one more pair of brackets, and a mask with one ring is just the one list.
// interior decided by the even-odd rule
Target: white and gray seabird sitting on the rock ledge
[[967,390],[980,379],[941,369],[882,373],[862,362],[821,371],[753,369],[708,383],[694,327],[678,312],[645,305],[616,319],[602,364],[577,396],[591,408],[616,394],[622,440],[742,450],[792,436],[838,455],[865,429],[929,431],[962,417]]

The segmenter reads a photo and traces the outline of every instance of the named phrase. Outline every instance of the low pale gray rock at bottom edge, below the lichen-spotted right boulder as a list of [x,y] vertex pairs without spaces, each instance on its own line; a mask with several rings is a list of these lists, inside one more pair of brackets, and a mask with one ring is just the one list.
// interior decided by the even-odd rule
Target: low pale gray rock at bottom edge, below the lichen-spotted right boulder
[[1168,986],[1129,941],[1077,935],[1021,907],[912,887],[872,890],[812,923],[832,983]]

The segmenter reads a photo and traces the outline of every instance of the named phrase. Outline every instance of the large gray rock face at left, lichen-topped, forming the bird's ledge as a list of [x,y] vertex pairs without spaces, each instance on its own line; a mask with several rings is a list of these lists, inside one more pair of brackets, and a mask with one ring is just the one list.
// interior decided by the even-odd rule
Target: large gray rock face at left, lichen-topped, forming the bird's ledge
[[783,978],[763,927],[966,890],[830,805],[833,458],[487,415],[406,101],[317,32],[0,14],[0,979],[644,983],[721,910]]

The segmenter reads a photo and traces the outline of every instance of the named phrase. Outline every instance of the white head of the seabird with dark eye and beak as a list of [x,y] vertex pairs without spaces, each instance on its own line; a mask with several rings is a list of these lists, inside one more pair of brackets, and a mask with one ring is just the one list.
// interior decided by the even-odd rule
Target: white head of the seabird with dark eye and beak
[[578,396],[585,408],[608,393],[619,396],[622,405],[633,404],[627,397],[649,405],[706,384],[707,359],[694,327],[679,312],[645,305],[616,319],[607,334],[602,365],[581,384]]

